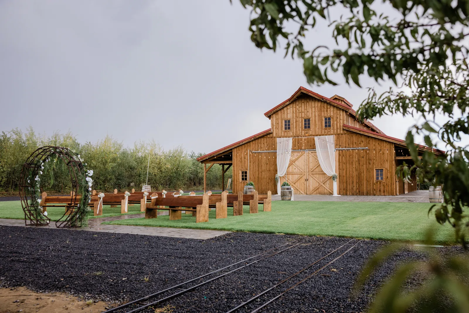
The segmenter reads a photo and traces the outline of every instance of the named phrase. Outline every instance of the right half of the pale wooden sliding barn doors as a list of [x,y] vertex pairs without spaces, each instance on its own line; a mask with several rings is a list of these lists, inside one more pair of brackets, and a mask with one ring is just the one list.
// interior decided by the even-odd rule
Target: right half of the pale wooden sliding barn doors
[[332,195],[332,176],[327,176],[321,169],[316,152],[308,151],[307,157],[307,194],[309,195]]

